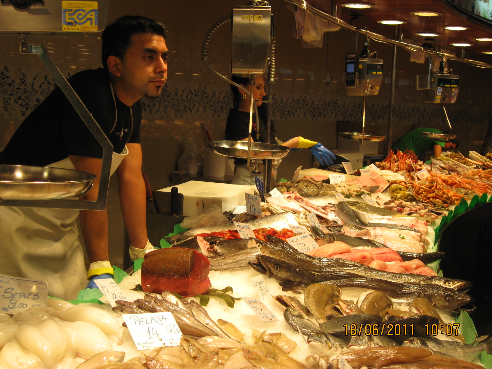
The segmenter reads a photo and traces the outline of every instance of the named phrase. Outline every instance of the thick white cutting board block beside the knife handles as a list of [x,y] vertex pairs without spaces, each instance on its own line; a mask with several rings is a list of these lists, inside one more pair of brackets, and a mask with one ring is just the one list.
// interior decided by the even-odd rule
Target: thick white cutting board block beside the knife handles
[[246,205],[245,193],[254,194],[255,188],[253,185],[188,181],[158,191],[171,192],[173,187],[178,187],[183,194],[184,216],[202,214],[212,204],[224,212],[231,211],[238,205]]

